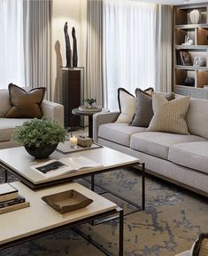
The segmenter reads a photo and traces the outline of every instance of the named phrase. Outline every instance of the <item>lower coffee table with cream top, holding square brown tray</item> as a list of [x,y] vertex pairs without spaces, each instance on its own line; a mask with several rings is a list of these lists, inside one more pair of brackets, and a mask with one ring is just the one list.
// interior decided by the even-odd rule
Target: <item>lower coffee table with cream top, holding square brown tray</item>
[[[76,182],[42,188],[38,191],[27,188],[26,185],[19,181],[12,182],[12,186],[19,189],[19,194],[26,197],[27,201],[30,202],[30,206],[0,215],[0,250],[63,230],[64,228],[72,228],[91,220],[119,213],[119,255],[123,255],[123,210],[117,204]],[[68,189],[75,189],[88,196],[93,199],[93,203],[82,209],[61,214],[41,199],[42,196],[63,192]]]

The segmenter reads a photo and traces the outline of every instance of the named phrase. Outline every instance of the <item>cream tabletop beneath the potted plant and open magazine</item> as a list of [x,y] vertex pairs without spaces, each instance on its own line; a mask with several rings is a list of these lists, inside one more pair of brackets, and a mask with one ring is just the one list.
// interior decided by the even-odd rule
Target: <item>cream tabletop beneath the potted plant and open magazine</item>
[[[13,171],[19,173],[21,176],[31,181],[33,184],[42,184],[51,180],[61,179],[60,177],[46,178],[41,173],[35,172],[30,168],[32,165],[42,164],[51,159],[60,159],[62,157],[71,156],[85,156],[96,163],[102,164],[102,167],[93,169],[93,173],[101,170],[107,170],[114,167],[122,167],[127,164],[138,164],[139,159],[119,151],[113,150],[112,148],[96,148],[91,150],[83,150],[81,152],[75,152],[63,155],[58,151],[55,151],[50,158],[44,160],[36,160],[33,156],[28,155],[24,147],[17,148],[5,148],[0,150],[0,162],[8,166]],[[79,174],[92,173],[90,169],[81,170],[65,175],[64,177],[75,177]],[[63,177],[62,177],[63,178]]]

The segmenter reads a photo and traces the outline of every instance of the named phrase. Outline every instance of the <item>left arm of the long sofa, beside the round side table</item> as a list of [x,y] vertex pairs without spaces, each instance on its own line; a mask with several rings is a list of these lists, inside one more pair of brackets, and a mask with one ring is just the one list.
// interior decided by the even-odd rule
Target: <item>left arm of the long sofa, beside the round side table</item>
[[113,123],[118,118],[120,112],[96,113],[93,115],[93,140],[97,141],[98,126],[100,124]]

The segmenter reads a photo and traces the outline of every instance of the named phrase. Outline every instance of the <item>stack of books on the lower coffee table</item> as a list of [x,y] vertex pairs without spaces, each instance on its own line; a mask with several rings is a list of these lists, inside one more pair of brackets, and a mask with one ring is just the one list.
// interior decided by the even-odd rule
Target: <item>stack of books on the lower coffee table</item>
[[9,183],[0,184],[0,214],[29,206],[26,198],[19,195],[17,188]]

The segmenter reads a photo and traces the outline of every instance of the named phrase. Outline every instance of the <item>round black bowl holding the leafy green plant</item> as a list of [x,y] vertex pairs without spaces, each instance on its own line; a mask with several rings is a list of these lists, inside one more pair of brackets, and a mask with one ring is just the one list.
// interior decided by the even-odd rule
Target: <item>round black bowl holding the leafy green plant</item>
[[28,147],[25,146],[27,153],[30,156],[35,156],[36,159],[44,159],[44,158],[48,158],[50,156],[50,154],[53,153],[53,151],[56,150],[58,144],[56,145],[46,145],[44,147]]

